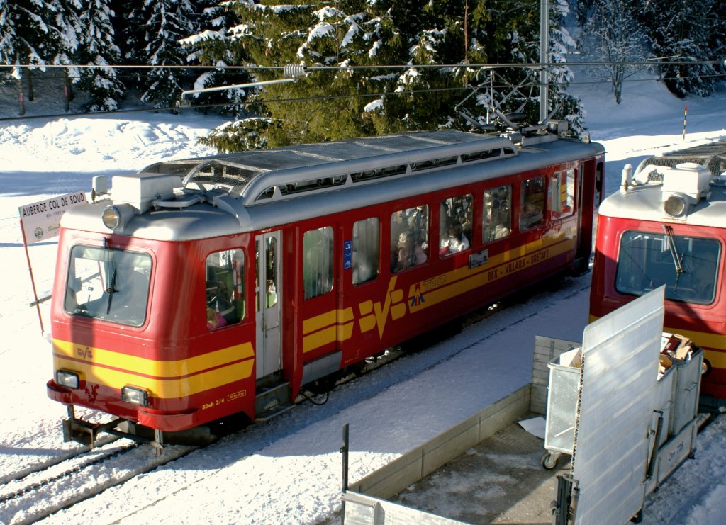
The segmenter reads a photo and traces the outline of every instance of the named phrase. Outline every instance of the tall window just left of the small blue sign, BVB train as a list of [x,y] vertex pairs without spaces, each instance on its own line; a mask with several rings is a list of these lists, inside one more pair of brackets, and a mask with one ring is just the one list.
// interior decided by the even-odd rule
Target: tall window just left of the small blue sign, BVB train
[[303,290],[305,299],[333,289],[333,228],[325,226],[303,234]]

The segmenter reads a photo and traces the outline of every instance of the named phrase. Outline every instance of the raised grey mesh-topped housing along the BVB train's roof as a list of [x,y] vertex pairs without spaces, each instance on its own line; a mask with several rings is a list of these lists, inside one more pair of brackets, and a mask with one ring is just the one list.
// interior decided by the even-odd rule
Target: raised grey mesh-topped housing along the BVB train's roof
[[[179,176],[184,188],[226,187],[245,206],[301,192],[517,154],[512,141],[460,131],[428,131],[158,162],[141,173]],[[407,166],[409,165],[409,166]],[[333,180],[331,180],[333,178]]]

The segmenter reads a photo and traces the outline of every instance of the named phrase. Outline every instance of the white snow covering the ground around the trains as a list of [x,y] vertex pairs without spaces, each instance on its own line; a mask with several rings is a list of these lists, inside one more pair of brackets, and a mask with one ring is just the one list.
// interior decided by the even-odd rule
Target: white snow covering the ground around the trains
[[[592,139],[607,149],[606,194],[616,190],[627,163],[635,167],[646,156],[726,137],[726,93],[686,101],[684,141],[685,102],[657,83],[627,84],[620,106],[607,86],[576,91],[585,101]],[[59,422],[65,410],[45,393],[50,350],[36,309],[28,307],[33,292],[17,208],[88,191],[92,175],[131,173],[158,160],[211,154],[195,138],[222,122],[187,111],[0,123],[0,249],[7,276],[0,305],[0,370],[5,372],[0,484],[9,474],[76,447],[62,443]],[[28,250],[39,297],[51,289],[55,247],[49,240]],[[535,334],[582,339],[588,279],[568,281],[547,299],[555,301],[552,305],[533,298],[336,389],[322,407],[301,405],[46,521],[315,523],[339,507],[344,423],[351,424],[350,476],[359,479],[513,392],[530,381]],[[46,305],[41,314],[47,331]],[[571,320],[567,326],[563,318]],[[726,488],[719,484],[726,479],[725,425],[719,418],[699,435],[696,459],[654,495],[645,523],[708,523],[725,515]],[[22,519],[23,509],[0,508],[0,522]]]

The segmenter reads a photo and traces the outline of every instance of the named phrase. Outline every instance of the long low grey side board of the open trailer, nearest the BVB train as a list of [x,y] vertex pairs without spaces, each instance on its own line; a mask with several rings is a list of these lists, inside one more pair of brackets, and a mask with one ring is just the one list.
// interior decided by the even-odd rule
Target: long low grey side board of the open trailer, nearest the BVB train
[[529,384],[523,386],[378,471],[349,484],[348,490],[384,499],[398,494],[499,429],[521,418],[529,410],[530,387]]

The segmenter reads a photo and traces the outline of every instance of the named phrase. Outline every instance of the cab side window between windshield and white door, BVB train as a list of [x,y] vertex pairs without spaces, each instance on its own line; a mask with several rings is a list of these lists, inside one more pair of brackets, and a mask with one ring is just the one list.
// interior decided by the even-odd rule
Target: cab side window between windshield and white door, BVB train
[[234,248],[211,253],[205,274],[207,327],[240,323],[245,317],[245,252]]

